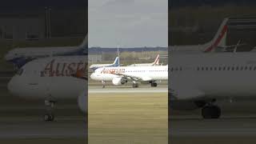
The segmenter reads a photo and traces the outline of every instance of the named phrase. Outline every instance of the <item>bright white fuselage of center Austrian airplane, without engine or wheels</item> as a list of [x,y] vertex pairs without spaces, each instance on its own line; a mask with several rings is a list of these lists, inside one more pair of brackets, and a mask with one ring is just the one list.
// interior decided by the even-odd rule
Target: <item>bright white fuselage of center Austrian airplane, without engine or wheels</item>
[[142,78],[140,81],[156,81],[168,79],[168,66],[118,66],[102,67],[94,71],[90,78],[98,81],[112,81],[121,77],[117,74],[126,74],[134,78]]

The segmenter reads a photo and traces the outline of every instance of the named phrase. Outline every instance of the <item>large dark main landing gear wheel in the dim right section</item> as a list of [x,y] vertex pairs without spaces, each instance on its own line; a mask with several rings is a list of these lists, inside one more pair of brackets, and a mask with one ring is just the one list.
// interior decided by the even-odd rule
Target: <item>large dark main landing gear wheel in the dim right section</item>
[[202,118],[211,119],[219,118],[221,116],[221,109],[218,106],[205,106],[202,108]]

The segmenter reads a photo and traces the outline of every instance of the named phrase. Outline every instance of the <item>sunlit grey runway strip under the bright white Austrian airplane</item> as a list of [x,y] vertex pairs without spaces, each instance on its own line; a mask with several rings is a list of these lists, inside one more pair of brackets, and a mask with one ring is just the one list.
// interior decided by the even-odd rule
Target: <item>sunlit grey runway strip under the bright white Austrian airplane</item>
[[104,94],[104,93],[167,93],[167,86],[140,86],[132,88],[131,86],[109,86],[102,88],[102,86],[89,86],[89,94]]

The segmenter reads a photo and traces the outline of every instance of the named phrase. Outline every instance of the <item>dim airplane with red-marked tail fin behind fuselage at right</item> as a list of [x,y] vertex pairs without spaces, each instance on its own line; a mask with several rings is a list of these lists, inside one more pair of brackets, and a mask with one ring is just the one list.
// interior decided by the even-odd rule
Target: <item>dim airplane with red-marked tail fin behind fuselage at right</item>
[[188,46],[170,46],[172,51],[202,51],[205,53],[214,52],[217,48],[226,47],[226,33],[228,30],[227,22],[229,18],[224,18],[222,24],[218,28],[217,33],[214,35],[214,38],[210,42],[199,45],[188,45]]

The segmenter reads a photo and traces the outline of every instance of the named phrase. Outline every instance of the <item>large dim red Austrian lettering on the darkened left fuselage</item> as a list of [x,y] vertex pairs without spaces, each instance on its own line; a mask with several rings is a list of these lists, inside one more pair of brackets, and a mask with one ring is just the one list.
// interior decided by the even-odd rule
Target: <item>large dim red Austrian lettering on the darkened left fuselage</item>
[[46,64],[41,71],[41,77],[66,77],[75,74],[78,70],[86,72],[86,62],[55,62],[55,59]]

